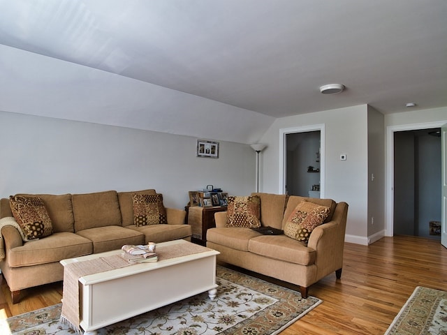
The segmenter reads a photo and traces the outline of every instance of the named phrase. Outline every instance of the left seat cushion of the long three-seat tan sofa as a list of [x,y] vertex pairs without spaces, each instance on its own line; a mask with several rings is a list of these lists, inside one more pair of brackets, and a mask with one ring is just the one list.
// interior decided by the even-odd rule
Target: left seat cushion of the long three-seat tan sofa
[[73,232],[55,232],[45,239],[29,241],[23,246],[10,249],[7,260],[10,267],[27,267],[59,262],[67,258],[89,255],[92,252],[93,244],[89,239]]

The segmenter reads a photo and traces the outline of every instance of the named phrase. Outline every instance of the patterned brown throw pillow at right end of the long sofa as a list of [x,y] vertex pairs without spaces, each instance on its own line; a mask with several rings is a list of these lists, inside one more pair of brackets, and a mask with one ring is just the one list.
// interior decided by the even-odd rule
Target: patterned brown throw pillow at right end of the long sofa
[[133,223],[140,225],[159,225],[168,223],[163,195],[133,193]]

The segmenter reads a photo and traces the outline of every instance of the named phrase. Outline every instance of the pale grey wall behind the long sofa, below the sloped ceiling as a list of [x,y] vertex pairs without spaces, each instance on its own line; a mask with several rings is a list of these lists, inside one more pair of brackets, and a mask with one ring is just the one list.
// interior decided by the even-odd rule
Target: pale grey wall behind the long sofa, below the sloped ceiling
[[219,142],[219,158],[196,157],[196,137],[0,112],[0,197],[155,188],[167,207],[207,184],[230,195],[255,188],[247,144]]

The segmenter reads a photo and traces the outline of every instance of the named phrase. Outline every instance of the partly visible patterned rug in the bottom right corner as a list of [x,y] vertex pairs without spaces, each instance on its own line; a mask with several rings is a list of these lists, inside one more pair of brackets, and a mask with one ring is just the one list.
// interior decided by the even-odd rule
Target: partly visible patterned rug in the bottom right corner
[[418,286],[385,335],[447,334],[447,292]]

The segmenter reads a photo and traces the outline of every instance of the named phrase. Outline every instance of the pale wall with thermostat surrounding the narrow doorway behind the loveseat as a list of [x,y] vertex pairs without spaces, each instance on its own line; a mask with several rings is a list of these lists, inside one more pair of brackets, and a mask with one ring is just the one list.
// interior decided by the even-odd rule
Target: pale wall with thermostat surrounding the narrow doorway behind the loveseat
[[[279,133],[281,129],[325,124],[325,198],[349,204],[346,234],[367,236],[367,105],[284,117],[261,142],[262,192],[279,193]],[[340,161],[346,154],[346,161]],[[323,185],[322,185],[323,186]]]

